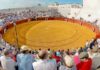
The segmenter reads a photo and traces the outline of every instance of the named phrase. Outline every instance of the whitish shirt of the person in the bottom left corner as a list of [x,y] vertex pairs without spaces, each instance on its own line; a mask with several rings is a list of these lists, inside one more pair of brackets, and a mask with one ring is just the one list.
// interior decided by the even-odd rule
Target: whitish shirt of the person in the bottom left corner
[[3,70],[15,70],[15,62],[10,57],[1,56],[0,62]]

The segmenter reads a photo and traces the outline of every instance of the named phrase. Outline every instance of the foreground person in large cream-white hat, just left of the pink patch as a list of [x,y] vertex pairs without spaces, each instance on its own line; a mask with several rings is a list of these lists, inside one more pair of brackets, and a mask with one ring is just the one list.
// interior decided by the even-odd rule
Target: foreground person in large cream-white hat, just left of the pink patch
[[59,70],[77,70],[74,64],[74,60],[69,55],[64,57],[65,65],[61,65]]

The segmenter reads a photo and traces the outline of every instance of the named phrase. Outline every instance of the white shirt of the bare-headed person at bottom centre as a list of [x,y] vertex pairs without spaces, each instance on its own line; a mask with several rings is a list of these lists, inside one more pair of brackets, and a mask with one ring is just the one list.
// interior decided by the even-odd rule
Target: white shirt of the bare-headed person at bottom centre
[[48,60],[38,60],[32,65],[34,70],[57,70],[57,65],[53,62],[49,62]]

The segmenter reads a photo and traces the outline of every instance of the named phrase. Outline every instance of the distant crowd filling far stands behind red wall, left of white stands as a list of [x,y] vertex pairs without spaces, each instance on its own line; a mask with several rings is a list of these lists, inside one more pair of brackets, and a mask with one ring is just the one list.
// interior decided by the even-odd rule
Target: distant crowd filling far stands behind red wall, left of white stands
[[45,7],[40,7],[40,8],[39,9],[21,8],[21,9],[3,10],[0,11],[0,19],[3,20],[3,23],[8,23],[12,21],[18,21],[29,18],[52,17],[58,15],[61,16],[55,9],[49,9],[49,8],[46,9]]

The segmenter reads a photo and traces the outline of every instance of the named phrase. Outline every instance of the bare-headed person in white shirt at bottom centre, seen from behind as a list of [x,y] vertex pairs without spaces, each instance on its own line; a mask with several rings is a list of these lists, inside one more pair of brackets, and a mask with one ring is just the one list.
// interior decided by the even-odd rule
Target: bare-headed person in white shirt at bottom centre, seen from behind
[[57,70],[57,65],[48,61],[48,53],[45,50],[41,50],[38,54],[40,60],[33,63],[34,70]]

